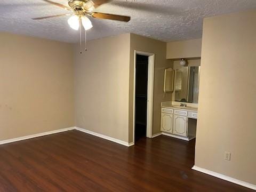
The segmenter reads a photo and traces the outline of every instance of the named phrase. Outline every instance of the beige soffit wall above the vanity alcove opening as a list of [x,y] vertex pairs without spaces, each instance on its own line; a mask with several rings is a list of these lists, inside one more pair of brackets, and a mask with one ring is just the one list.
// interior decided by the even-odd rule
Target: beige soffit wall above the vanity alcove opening
[[169,42],[166,47],[167,59],[199,58],[201,57],[202,39]]

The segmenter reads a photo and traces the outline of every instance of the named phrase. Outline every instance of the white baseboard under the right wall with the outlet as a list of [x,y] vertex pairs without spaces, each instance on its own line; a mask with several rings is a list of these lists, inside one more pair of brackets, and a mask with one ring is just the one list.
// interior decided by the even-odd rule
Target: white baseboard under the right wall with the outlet
[[203,169],[203,168],[198,167],[198,166],[193,166],[192,169],[196,170],[196,171],[199,171],[199,172],[202,172],[202,173],[205,173],[205,174],[212,175],[213,177],[217,177],[217,178],[229,181],[229,182],[236,183],[237,185],[241,185],[241,186],[256,190],[256,185],[253,185],[253,184],[245,182],[245,181],[241,181],[241,180],[238,180],[238,179],[235,179],[235,178],[231,178],[231,177],[228,177],[226,175],[216,173],[216,172],[213,172],[213,171],[210,171],[210,170],[206,170],[206,169]]

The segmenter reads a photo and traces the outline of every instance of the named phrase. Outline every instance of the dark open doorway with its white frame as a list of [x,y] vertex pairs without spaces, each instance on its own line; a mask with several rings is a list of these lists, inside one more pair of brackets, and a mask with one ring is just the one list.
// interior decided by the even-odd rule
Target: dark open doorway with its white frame
[[134,53],[134,142],[143,137],[152,137],[154,61],[153,53]]

